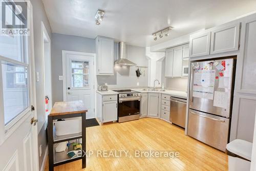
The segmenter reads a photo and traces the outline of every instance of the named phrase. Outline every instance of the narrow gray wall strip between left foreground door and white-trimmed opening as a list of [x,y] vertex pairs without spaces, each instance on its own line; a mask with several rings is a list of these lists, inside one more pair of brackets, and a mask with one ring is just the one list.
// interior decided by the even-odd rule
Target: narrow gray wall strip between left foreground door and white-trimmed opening
[[[36,82],[36,112],[37,112],[37,130],[38,130],[38,148],[42,146],[42,155],[39,156],[39,167],[41,167],[42,159],[47,146],[46,130],[44,127],[44,94],[42,82],[42,45],[41,45],[41,21],[47,29],[51,38],[51,26],[46,16],[45,7],[41,0],[31,0],[33,6],[33,25],[34,25],[34,55],[35,55],[35,70],[39,72],[39,82]],[[39,154],[39,149],[38,149]]]

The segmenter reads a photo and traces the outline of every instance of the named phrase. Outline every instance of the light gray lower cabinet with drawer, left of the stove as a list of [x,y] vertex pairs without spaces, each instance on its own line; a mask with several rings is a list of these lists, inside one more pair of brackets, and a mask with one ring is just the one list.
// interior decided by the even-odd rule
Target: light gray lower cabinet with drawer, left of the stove
[[103,124],[117,121],[117,95],[96,93],[96,118]]

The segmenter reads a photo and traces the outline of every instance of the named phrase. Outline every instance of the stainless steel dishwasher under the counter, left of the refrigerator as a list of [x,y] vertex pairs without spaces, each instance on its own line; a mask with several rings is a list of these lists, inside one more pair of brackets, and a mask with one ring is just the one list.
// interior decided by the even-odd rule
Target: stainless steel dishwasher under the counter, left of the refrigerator
[[170,122],[185,128],[187,99],[170,97]]

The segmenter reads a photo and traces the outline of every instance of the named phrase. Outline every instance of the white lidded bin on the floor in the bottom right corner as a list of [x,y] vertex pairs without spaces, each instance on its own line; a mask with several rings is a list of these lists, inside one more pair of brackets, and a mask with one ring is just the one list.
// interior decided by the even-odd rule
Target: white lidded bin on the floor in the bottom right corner
[[236,139],[228,143],[226,153],[228,155],[229,171],[249,171],[251,164],[252,143]]

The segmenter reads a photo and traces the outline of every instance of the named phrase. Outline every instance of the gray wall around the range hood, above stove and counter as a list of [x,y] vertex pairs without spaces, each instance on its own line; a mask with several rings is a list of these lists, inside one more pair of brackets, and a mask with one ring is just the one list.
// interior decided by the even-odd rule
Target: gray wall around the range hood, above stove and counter
[[[118,58],[118,44],[115,43],[115,59]],[[137,66],[148,67],[148,59],[145,55],[145,48],[126,45],[126,57]],[[131,88],[131,87],[147,87],[148,68],[140,68],[140,77],[136,76],[136,67],[114,67],[113,76],[97,76],[97,82],[99,85],[108,83],[108,86],[112,89],[115,88]],[[137,86],[139,82],[139,86]]]

